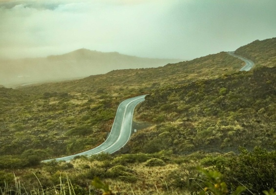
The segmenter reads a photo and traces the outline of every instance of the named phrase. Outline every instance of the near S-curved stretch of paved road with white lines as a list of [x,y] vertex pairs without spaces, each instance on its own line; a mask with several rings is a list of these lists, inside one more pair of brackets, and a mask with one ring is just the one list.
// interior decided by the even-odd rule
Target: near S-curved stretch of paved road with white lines
[[133,117],[133,112],[134,108],[137,104],[145,100],[146,95],[143,96],[138,96],[134,98],[129,98],[125,101],[123,101],[117,110],[113,126],[111,128],[111,132],[109,136],[107,137],[106,141],[99,145],[96,148],[93,148],[91,150],[88,150],[83,153],[79,153],[76,155],[71,155],[71,156],[64,156],[60,158],[53,158],[53,159],[48,159],[48,160],[43,160],[42,162],[47,162],[50,160],[65,160],[65,161],[70,161],[72,160],[75,156],[81,156],[81,155],[96,155],[101,152],[105,153],[114,153],[124,147],[124,145],[127,144],[127,141],[130,138],[131,135],[131,130],[132,130],[132,117]]

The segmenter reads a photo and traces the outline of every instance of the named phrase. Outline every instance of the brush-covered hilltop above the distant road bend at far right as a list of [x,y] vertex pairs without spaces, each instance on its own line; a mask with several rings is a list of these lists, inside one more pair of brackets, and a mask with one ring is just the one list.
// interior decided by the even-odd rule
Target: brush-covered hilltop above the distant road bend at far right
[[235,51],[235,54],[251,59],[258,66],[276,66],[276,38],[255,40]]

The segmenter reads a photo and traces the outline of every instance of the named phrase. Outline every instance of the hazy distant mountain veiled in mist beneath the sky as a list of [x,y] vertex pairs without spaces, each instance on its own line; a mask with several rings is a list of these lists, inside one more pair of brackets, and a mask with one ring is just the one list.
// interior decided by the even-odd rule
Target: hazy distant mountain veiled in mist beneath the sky
[[13,87],[24,83],[59,81],[104,74],[115,69],[149,68],[180,59],[148,59],[79,49],[47,58],[0,60],[0,83]]

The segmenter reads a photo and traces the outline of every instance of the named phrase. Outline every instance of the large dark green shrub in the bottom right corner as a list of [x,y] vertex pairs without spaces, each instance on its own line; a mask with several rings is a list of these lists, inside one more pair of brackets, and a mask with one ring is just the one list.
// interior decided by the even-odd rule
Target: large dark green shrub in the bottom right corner
[[254,194],[276,187],[276,151],[255,147],[252,152],[240,148],[240,155],[217,166],[226,183],[236,188],[244,185]]

